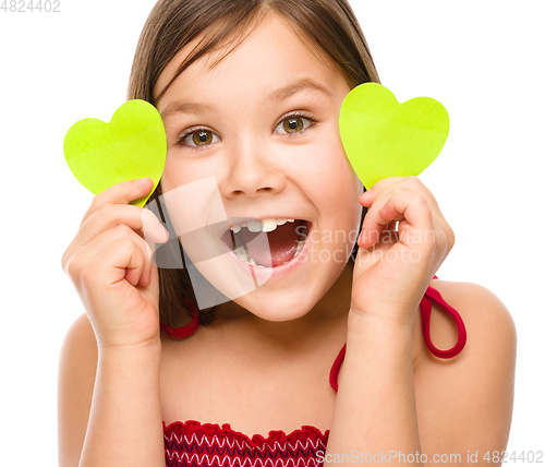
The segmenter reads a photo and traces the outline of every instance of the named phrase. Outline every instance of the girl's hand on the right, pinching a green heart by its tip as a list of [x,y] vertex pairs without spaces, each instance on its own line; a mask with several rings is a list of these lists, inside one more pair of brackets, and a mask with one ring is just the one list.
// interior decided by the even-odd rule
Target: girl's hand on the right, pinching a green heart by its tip
[[416,177],[380,180],[359,202],[368,212],[358,240],[351,312],[412,325],[455,234]]

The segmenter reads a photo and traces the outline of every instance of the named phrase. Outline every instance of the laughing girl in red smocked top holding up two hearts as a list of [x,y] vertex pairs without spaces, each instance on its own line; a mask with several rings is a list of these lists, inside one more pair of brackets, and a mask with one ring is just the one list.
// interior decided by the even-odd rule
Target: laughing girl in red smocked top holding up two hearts
[[[338,121],[370,81],[347,0],[156,4],[129,98],[161,113],[167,161],[146,208],[129,203],[150,179],[95,196],[63,255],[86,312],[60,361],[61,467],[500,464],[511,316],[437,280],[455,236],[417,178],[364,191]],[[221,262],[187,249],[184,215]],[[223,302],[199,306],[185,256]]]

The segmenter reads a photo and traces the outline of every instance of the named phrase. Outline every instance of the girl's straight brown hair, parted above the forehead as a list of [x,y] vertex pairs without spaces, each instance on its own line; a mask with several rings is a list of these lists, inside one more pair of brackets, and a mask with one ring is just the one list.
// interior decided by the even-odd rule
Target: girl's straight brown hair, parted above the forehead
[[[358,20],[348,0],[159,0],[152,10],[136,47],[128,99],[156,105],[170,84],[192,63],[226,46],[227,52],[216,65],[256,28],[268,12],[275,12],[292,25],[295,34],[318,57],[332,60],[349,87],[370,81],[379,82],[375,64]],[[159,75],[189,43],[203,37],[185,58],[172,80],[154,97]],[[213,68],[210,67],[210,68]],[[157,185],[148,205],[162,194]],[[156,204],[158,205],[158,203]],[[159,219],[169,223],[158,207]],[[365,211],[365,209],[364,209]],[[173,231],[170,229],[170,231]],[[355,259],[358,244],[351,260]],[[193,287],[182,259],[181,246],[173,238],[156,252],[159,267],[159,319],[175,327],[187,315],[184,302],[195,303]],[[183,260],[182,260],[183,261]],[[219,306],[199,311],[202,323],[210,323]]]

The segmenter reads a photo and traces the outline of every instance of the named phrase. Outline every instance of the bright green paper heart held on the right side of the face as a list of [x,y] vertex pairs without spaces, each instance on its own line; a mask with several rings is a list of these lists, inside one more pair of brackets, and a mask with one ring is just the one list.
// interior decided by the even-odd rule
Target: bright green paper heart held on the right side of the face
[[366,189],[388,177],[420,175],[439,155],[449,131],[445,107],[431,97],[399,104],[377,83],[353,88],[342,103],[344,152]]

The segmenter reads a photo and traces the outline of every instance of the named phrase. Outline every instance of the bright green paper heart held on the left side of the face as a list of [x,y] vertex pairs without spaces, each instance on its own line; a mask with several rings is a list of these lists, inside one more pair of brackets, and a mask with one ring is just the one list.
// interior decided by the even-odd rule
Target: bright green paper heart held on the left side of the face
[[64,136],[64,158],[75,178],[93,194],[124,180],[150,177],[154,188],[130,204],[144,206],[162,175],[167,136],[161,117],[149,103],[129,100],[111,121],[88,118]]

